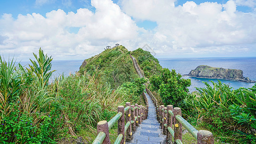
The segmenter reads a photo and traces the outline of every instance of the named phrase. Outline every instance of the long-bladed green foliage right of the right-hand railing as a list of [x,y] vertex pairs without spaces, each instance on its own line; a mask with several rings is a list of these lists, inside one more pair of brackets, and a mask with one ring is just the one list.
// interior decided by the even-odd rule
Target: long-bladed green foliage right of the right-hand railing
[[[256,94],[250,89],[232,89],[220,81],[211,81],[206,87],[184,99],[181,107],[186,117],[197,117],[197,123],[225,142],[251,144],[255,141]],[[252,88],[253,89],[253,88]],[[236,133],[234,133],[236,132]],[[234,137],[235,139],[228,138]],[[253,144],[253,143],[252,143]]]

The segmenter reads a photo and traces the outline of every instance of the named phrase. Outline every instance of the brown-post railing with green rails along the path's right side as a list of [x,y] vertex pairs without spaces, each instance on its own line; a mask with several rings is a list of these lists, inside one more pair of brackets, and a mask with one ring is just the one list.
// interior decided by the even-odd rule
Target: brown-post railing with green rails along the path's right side
[[[160,122],[163,134],[166,134],[166,144],[172,144],[172,137],[174,138],[174,144],[182,144],[182,126],[190,132],[197,144],[214,144],[213,134],[209,131],[197,131],[190,123],[182,118],[181,108],[173,108],[172,105],[167,107],[158,106],[158,101],[151,91],[146,88],[147,94],[152,98],[153,103],[156,106],[157,119]],[[174,124],[174,129],[172,128]]]

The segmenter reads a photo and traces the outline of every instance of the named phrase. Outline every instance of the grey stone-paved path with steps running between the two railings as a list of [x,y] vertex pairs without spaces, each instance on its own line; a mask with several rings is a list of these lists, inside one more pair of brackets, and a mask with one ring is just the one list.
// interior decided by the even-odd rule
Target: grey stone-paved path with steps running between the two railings
[[133,140],[125,142],[126,144],[165,144],[166,136],[162,134],[160,123],[157,120],[156,108],[150,96],[146,94],[148,99],[148,115],[137,127],[133,135]]

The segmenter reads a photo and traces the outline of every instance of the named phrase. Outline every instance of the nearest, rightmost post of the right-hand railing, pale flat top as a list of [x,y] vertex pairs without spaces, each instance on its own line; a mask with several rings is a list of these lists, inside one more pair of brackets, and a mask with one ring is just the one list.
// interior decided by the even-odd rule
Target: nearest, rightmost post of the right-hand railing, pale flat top
[[213,134],[209,131],[200,130],[197,133],[197,144],[214,144]]

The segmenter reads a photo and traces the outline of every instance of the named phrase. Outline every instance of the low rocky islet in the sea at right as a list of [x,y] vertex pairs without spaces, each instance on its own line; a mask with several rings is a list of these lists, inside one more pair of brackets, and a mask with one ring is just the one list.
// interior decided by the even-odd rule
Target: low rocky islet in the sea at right
[[256,83],[250,80],[248,77],[243,76],[242,70],[236,69],[224,69],[224,68],[214,68],[207,65],[199,65],[195,70],[191,70],[188,76],[193,77],[203,77],[203,78],[216,78],[216,79],[229,79],[238,80],[248,83]]

